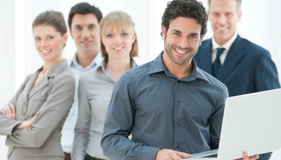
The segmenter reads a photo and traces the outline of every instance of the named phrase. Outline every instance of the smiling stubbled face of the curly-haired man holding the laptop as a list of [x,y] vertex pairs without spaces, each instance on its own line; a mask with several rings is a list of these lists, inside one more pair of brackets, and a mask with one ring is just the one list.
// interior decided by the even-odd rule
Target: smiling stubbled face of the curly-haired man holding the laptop
[[177,17],[169,23],[169,29],[162,26],[164,53],[177,65],[191,61],[204,36],[200,37],[201,25],[194,19]]

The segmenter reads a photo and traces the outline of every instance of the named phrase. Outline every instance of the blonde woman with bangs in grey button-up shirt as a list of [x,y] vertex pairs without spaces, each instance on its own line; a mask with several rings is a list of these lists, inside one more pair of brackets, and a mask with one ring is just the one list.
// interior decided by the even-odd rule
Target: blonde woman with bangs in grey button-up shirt
[[79,114],[72,157],[75,160],[108,159],[103,156],[101,135],[113,86],[124,71],[137,66],[138,44],[131,17],[111,12],[101,20],[100,65],[85,72],[79,84]]

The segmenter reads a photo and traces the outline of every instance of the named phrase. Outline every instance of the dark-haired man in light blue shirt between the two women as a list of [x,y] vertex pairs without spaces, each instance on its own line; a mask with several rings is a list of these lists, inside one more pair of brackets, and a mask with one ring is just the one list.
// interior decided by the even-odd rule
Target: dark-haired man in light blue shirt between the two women
[[68,61],[75,76],[75,94],[74,103],[62,128],[61,144],[65,159],[71,159],[74,127],[78,117],[79,79],[83,72],[94,68],[101,61],[99,22],[102,17],[101,11],[88,3],[76,4],[69,12],[70,35],[75,41],[77,51]]

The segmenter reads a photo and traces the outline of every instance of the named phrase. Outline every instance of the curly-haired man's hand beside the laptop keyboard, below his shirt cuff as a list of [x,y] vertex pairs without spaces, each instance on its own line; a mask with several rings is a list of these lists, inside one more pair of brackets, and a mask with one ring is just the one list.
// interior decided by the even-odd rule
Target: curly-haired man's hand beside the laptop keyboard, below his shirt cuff
[[171,149],[160,149],[155,156],[155,160],[182,160],[182,158],[190,157],[191,154],[184,152],[173,151]]

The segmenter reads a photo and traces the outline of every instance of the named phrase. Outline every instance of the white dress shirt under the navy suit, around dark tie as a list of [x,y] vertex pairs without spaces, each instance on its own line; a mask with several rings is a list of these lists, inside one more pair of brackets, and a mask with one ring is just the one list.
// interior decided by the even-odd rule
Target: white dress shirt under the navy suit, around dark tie
[[234,36],[230,40],[228,40],[225,44],[223,44],[222,46],[217,44],[216,40],[214,39],[214,36],[212,37],[212,64],[214,63],[216,56],[217,56],[217,48],[224,48],[225,50],[219,56],[219,61],[221,62],[221,65],[223,65],[225,58],[227,56],[227,53],[228,53],[230,47],[232,46],[234,40],[237,38],[237,35],[238,35],[238,33],[235,32]]

